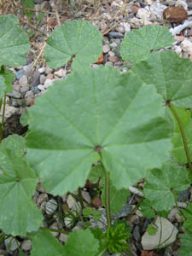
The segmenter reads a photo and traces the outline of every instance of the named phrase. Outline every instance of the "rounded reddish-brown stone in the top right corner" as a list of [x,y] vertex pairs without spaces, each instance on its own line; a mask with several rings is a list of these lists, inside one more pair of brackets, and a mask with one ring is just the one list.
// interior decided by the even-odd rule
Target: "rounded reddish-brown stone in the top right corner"
[[187,18],[188,13],[183,7],[168,7],[163,11],[163,19],[170,22],[181,23]]

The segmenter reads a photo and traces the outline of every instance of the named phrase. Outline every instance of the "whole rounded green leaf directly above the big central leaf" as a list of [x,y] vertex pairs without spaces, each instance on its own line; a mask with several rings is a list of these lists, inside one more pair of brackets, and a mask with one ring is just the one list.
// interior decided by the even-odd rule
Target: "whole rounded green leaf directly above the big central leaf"
[[49,67],[89,67],[102,53],[102,34],[88,21],[73,20],[57,27],[48,38],[44,55]]

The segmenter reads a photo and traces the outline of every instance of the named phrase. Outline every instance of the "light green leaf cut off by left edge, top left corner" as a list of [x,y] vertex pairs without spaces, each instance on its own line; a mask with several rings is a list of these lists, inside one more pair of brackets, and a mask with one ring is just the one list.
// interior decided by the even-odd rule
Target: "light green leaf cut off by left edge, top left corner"
[[0,16],[0,65],[17,67],[26,63],[30,48],[26,32],[15,15]]

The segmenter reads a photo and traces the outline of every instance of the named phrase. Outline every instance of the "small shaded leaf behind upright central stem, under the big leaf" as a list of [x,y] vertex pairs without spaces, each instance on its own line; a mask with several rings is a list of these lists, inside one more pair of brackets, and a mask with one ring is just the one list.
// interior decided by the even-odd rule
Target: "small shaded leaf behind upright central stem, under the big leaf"
[[[115,189],[113,184],[110,183],[110,206],[111,206],[111,212],[116,213],[119,212],[119,210],[123,207],[123,204],[125,204],[127,200],[127,196],[130,195],[129,189]],[[102,189],[102,204],[106,206],[105,201],[105,186]]]

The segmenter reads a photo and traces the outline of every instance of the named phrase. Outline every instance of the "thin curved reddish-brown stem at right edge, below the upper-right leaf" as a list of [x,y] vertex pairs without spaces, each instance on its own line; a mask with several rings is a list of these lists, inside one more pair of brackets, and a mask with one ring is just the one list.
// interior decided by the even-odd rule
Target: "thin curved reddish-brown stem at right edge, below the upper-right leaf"
[[177,124],[178,124],[179,130],[180,130],[182,138],[183,138],[184,151],[185,151],[185,154],[186,154],[186,157],[188,160],[189,169],[190,169],[190,172],[192,173],[192,165],[191,165],[191,160],[190,160],[189,148],[188,148],[187,139],[184,134],[183,124],[182,124],[181,120],[179,119],[179,117],[177,115],[177,111],[175,110],[175,108],[173,108],[172,104],[169,104],[169,108],[171,109],[173,116],[177,120]]

